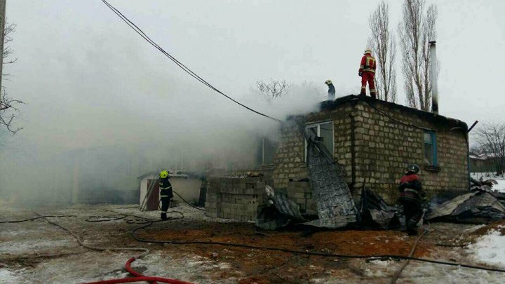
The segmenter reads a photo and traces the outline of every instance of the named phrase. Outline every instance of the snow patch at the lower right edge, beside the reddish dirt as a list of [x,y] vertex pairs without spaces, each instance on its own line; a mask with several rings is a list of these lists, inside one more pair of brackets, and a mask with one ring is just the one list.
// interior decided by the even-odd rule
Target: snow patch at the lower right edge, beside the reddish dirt
[[[500,228],[504,227],[498,226]],[[469,245],[469,250],[478,262],[505,268],[505,236],[499,231],[491,230],[481,236],[476,243]]]

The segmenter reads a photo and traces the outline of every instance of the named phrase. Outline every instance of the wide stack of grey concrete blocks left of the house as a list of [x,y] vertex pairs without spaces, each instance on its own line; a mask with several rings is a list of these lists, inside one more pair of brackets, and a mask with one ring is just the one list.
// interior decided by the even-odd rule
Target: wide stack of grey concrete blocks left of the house
[[264,192],[263,177],[213,177],[208,183],[206,215],[254,221]]

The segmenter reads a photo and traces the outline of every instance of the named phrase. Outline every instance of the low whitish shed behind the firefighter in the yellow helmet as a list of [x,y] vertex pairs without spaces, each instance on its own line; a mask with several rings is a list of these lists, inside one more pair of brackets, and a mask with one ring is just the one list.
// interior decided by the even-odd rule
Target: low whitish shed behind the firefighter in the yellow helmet
[[[151,187],[151,183],[156,182],[156,184],[154,184],[152,194],[145,201],[146,206],[144,210],[146,211],[159,210],[160,197],[159,197],[158,177],[159,177],[158,172],[144,173],[144,175],[140,175],[139,177],[137,177],[137,180],[139,180],[140,205],[142,205],[142,203],[144,202],[144,199],[146,198],[147,195],[147,189]],[[168,177],[170,177],[170,184],[172,184],[172,189],[173,191],[175,191],[174,192],[175,201],[184,202],[180,198],[180,196],[182,196],[182,198],[184,198],[185,201],[191,204],[198,203],[202,183],[201,178],[198,177],[198,175],[170,173]],[[180,196],[177,196],[177,194],[175,193],[179,194]]]

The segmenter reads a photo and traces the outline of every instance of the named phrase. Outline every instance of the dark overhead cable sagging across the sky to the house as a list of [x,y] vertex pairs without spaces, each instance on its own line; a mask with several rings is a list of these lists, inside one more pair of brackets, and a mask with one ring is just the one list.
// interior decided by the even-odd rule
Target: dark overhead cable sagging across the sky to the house
[[109,4],[109,2],[107,2],[105,0],[102,0],[102,2],[105,5],[107,5],[107,7],[109,7],[116,15],[118,15],[118,17],[121,18],[121,20],[123,20],[124,22],[126,22],[126,25],[128,25],[129,27],[131,27],[137,34],[139,34],[140,36],[142,36],[142,38],[145,39],[149,44],[151,44],[152,46],[154,46],[154,48],[156,48],[161,53],[163,53],[163,55],[165,55],[166,57],[170,58],[170,60],[172,60],[178,67],[180,67],[182,70],[184,70],[184,72],[186,72],[187,74],[189,74],[190,76],[192,76],[194,79],[198,80],[200,83],[203,83],[203,85],[207,86],[208,88],[211,88],[212,90],[215,90],[217,93],[220,93],[221,95],[224,95],[224,97],[227,97],[227,99],[231,100],[232,102],[235,102],[236,104],[241,105],[242,107],[245,107],[245,109],[253,111],[256,114],[260,114],[260,116],[264,116],[264,117],[267,117],[268,119],[272,119],[274,121],[278,121],[278,122],[282,123],[282,121],[280,119],[276,119],[276,118],[274,118],[272,116],[268,116],[267,114],[263,114],[260,111],[256,111],[254,109],[251,109],[250,107],[246,106],[245,104],[242,104],[241,102],[237,102],[233,98],[229,97],[228,95],[226,95],[222,91],[220,91],[217,88],[215,88],[214,86],[212,86],[206,80],[204,80],[203,78],[201,78],[201,76],[198,76],[198,74],[196,74],[195,72],[193,72],[186,65],[182,64],[182,62],[180,62],[179,60],[177,60],[176,58],[174,58],[172,55],[170,55],[170,53],[167,53],[163,48],[161,48],[161,46],[159,46],[149,36],[147,36],[147,34],[145,34],[144,31],[142,31],[142,29],[140,29],[140,27],[137,27],[137,25],[135,25],[135,23],[133,23],[132,21],[130,21],[130,19],[128,19],[125,15],[123,15],[123,13],[121,13],[114,6],[112,6],[111,4]]

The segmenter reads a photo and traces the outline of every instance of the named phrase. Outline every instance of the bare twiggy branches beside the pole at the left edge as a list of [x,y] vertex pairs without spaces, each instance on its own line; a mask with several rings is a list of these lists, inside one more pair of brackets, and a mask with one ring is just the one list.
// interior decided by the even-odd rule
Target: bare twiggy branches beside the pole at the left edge
[[[18,58],[13,58],[14,50],[9,43],[13,40],[11,34],[15,32],[15,24],[7,24],[4,29],[4,65],[12,64],[18,61]],[[4,68],[2,68],[4,69]],[[8,80],[11,74],[3,73],[2,78]],[[0,128],[6,128],[9,132],[15,134],[22,128],[14,127],[13,121],[19,116],[20,104],[24,104],[20,100],[14,100],[9,97],[6,88],[2,86],[0,90]]]

